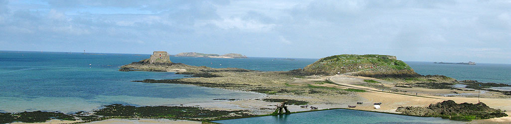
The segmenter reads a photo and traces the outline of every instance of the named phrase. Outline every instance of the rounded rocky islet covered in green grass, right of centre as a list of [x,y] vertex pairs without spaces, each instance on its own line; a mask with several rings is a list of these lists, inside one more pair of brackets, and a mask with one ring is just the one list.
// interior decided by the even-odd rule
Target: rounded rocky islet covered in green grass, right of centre
[[398,82],[452,82],[453,78],[440,75],[423,76],[396,56],[342,54],[324,57],[303,69],[308,74],[373,77]]

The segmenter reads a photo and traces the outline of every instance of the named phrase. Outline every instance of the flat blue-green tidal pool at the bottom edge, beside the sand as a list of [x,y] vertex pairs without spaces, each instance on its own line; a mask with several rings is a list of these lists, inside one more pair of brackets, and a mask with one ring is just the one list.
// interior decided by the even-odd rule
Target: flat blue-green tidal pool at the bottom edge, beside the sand
[[415,117],[356,110],[324,110],[288,115],[217,120],[218,123],[466,123],[439,117]]

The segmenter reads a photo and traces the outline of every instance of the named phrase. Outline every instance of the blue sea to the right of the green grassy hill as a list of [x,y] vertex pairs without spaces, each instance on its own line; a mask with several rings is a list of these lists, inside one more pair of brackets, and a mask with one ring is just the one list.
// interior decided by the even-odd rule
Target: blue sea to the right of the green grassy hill
[[422,75],[445,75],[456,80],[511,84],[510,64],[455,65],[422,61],[405,61],[405,63]]

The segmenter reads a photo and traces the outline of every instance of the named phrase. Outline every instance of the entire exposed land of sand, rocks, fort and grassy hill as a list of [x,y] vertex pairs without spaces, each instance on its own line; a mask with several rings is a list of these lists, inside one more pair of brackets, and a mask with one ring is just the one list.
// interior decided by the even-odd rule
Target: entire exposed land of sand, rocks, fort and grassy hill
[[[293,112],[354,109],[414,116],[498,123],[508,117],[508,92],[483,89],[506,84],[457,81],[440,75],[420,75],[390,55],[342,54],[321,58],[304,69],[261,72],[238,68],[210,68],[173,63],[166,52],[121,66],[119,71],[177,72],[194,78],[145,79],[133,83],[187,84],[251,91],[264,94],[254,99],[211,98],[215,103],[183,103],[180,106],[129,106],[113,104],[92,112],[0,113],[0,123],[39,122],[51,118],[76,122],[108,118],[173,118],[211,121],[225,118],[272,115],[287,101]],[[160,55],[161,54],[161,55]],[[466,87],[456,87],[462,84]],[[482,88],[477,88],[481,84]],[[484,90],[478,99],[478,89]],[[480,100],[481,102],[478,102]],[[457,104],[457,103],[461,104]],[[373,103],[381,107],[375,108]],[[308,105],[313,107],[304,108]],[[506,111],[507,110],[507,111]],[[31,119],[38,116],[37,120]]]

